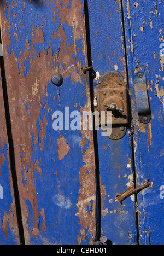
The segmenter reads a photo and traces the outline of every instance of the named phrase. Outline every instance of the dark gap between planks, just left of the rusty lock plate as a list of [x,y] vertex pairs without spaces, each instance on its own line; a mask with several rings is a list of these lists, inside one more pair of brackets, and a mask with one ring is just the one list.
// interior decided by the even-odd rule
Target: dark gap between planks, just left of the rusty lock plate
[[[87,44],[87,59],[89,67],[92,66],[91,55],[91,41],[90,41],[90,24],[89,24],[89,11],[88,2],[84,0],[84,15],[85,15],[85,28],[86,28],[86,44]],[[93,89],[93,74],[89,72],[89,86],[90,86],[90,99],[91,111],[94,112],[94,89]],[[93,143],[95,150],[95,176],[96,176],[96,237],[95,242],[100,241],[101,238],[101,191],[100,191],[100,173],[99,173],[99,156],[98,156],[98,142],[97,131],[95,129],[95,117],[93,116]]]

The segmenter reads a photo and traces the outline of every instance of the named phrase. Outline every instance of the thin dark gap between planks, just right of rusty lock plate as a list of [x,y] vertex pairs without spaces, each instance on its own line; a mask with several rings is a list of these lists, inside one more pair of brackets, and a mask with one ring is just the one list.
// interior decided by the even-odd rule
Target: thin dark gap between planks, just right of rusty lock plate
[[[129,91],[129,106],[131,109],[131,101],[130,101],[130,82],[129,82],[129,71],[128,71],[128,58],[127,58],[127,45],[126,45],[126,28],[125,28],[125,21],[124,21],[124,0],[120,0],[121,3],[121,14],[122,14],[122,31],[124,34],[124,49],[125,49],[125,63],[126,63],[126,75],[127,75],[127,86]],[[132,128],[132,127],[131,127]],[[137,188],[137,179],[136,179],[136,170],[135,170],[135,156],[134,156],[134,137],[133,133],[131,133],[132,140],[131,140],[131,149],[132,149],[132,161],[133,161],[133,173],[134,173],[134,188]],[[135,204],[136,204],[136,229],[137,229],[137,243],[139,245],[139,219],[138,219],[138,211],[137,211],[137,205],[138,205],[138,197],[135,195]]]

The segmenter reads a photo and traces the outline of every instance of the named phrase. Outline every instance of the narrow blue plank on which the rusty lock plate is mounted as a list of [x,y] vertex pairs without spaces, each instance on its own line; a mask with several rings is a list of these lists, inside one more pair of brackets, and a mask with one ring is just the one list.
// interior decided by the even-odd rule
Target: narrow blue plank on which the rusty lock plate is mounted
[[[90,39],[93,67],[102,76],[118,71],[126,79],[124,33],[120,1],[89,0]],[[95,80],[95,89],[97,85]],[[111,141],[97,132],[99,171],[101,177],[101,231],[108,243],[128,245],[137,243],[134,197],[124,205],[116,194],[124,193],[134,184],[131,132],[119,141]]]

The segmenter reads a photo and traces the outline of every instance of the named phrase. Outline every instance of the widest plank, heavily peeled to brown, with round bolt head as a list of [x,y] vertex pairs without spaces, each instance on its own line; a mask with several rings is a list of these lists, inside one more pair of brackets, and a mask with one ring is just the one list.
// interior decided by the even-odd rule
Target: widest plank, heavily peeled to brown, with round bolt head
[[[65,107],[90,110],[83,2],[1,1],[5,72],[26,245],[95,238],[92,131],[54,131]],[[60,73],[60,89],[51,75]]]

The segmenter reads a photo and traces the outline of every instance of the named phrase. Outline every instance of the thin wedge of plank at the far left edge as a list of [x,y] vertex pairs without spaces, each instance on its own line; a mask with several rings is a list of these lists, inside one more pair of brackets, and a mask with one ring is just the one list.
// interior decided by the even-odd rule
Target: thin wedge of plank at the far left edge
[[0,245],[20,245],[13,181],[10,170],[1,70],[0,109]]

